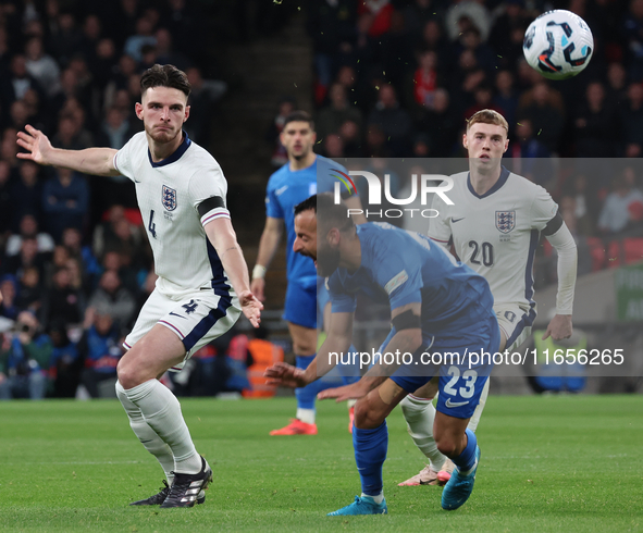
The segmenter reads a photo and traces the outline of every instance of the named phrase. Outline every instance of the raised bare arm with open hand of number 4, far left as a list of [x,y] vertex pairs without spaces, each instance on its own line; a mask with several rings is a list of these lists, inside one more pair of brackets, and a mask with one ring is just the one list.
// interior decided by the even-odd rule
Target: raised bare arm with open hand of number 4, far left
[[84,174],[118,176],[114,168],[113,148],[87,148],[85,150],[62,150],[53,148],[47,135],[34,126],[26,125],[17,133],[17,145],[26,152],[18,152],[18,159],[28,159],[42,165],[63,166]]

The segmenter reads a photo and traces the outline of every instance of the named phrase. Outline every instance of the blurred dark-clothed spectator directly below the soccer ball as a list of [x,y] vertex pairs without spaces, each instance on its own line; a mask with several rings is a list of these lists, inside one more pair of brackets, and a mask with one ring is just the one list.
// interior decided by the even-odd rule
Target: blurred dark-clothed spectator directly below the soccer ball
[[536,137],[548,150],[556,152],[559,149],[565,125],[562,99],[545,82],[539,82],[522,96],[517,117],[518,122],[522,119],[531,121]]

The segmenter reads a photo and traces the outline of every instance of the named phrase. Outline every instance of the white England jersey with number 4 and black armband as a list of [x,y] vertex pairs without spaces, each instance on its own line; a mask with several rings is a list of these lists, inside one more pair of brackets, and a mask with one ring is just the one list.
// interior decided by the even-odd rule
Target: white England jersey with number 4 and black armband
[[[114,166],[136,184],[159,292],[176,298],[213,288],[220,296],[233,296],[232,284],[203,230],[214,219],[230,219],[227,183],[214,158],[185,135],[172,156],[153,163],[146,134],[140,132],[116,152]],[[205,200],[210,200],[206,207],[201,206]]]

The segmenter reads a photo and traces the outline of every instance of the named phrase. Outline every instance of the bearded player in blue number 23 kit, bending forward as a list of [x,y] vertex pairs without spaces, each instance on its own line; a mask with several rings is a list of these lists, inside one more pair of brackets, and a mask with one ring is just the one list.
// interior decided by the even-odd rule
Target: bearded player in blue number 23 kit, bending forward
[[[359,382],[320,393],[320,398],[359,398],[353,444],[362,494],[330,515],[387,512],[382,481],[386,417],[433,375],[440,375],[434,437],[457,467],[442,493],[442,507],[457,509],[473,491],[480,448],[467,424],[493,367],[481,367],[469,354],[494,354],[500,342],[489,284],[429,237],[386,223],[355,226],[346,206],[336,206],[331,196],[306,200],[295,213],[295,251],[312,258],[319,274],[329,276],[331,324],[306,371],[280,363],[267,370],[270,383],[300,387],[330,370],[330,354],[345,354],[350,345],[358,293],[391,307],[392,329],[381,352],[413,354],[410,364],[397,370],[375,364]],[[422,354],[435,361],[450,354],[450,359],[431,367]]]

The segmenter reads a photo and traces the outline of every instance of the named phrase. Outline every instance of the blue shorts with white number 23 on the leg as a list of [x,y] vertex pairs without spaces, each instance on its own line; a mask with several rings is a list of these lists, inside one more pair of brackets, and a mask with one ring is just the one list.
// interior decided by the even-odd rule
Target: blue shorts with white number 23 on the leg
[[[438,374],[440,396],[436,410],[449,417],[470,418],[480,402],[480,395],[493,369],[493,361],[490,359],[500,346],[500,332],[492,310],[487,320],[480,321],[477,325],[478,327],[473,331],[462,335],[461,342],[455,342],[455,338],[435,337],[429,347],[423,348],[423,352],[431,354],[435,360],[440,360],[440,356],[443,356],[445,361],[443,364],[422,365],[422,370],[419,370],[420,362],[416,359],[413,362],[416,367],[401,367],[391,379],[410,394]],[[489,354],[490,357],[485,357],[482,362],[469,358],[470,354],[480,355],[481,351]]]

